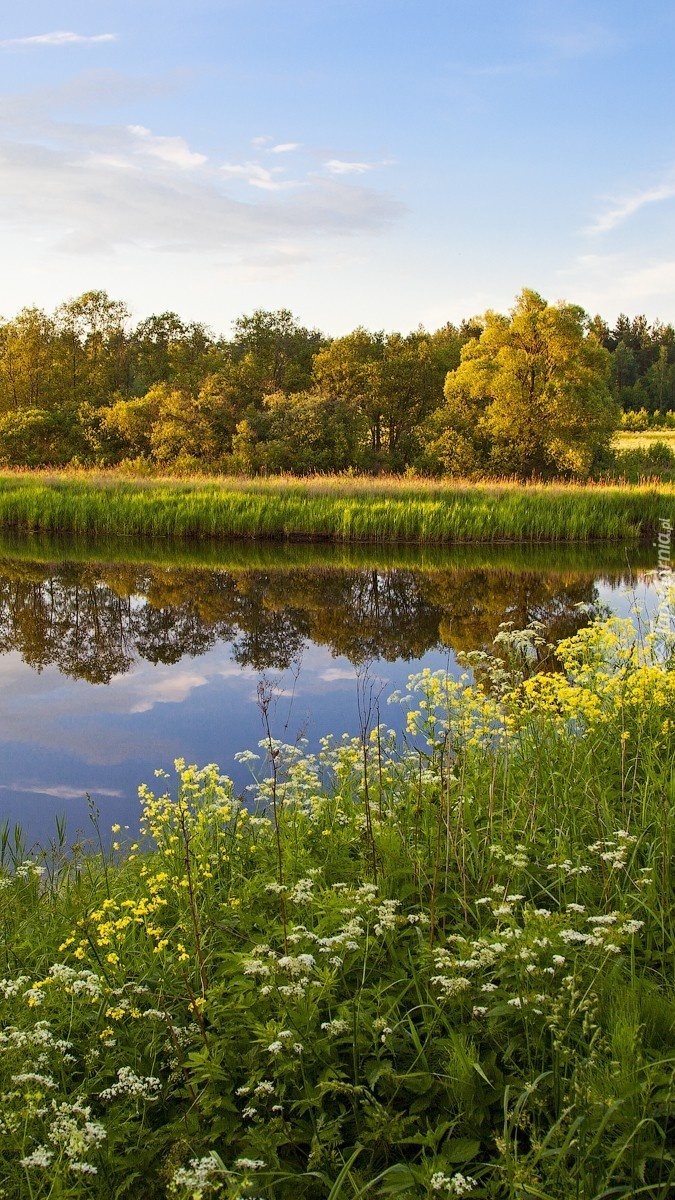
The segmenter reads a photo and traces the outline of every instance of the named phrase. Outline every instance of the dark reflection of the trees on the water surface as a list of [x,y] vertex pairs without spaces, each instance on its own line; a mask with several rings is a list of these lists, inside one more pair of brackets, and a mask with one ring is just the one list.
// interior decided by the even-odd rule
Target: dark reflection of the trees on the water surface
[[[626,570],[603,569],[611,583]],[[257,671],[282,670],[315,642],[353,664],[414,660],[435,647],[488,649],[504,620],[540,622],[550,640],[598,605],[598,572],[498,566],[291,566],[280,569],[0,566],[0,653],[41,671],[109,683],[136,659],[178,662],[232,643]]]

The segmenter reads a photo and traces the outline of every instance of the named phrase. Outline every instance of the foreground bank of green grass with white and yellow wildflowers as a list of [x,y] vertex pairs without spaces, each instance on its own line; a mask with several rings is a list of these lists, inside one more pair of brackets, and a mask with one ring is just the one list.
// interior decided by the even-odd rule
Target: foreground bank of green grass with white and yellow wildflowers
[[6,1196],[673,1195],[673,647],[539,640],[402,743],[263,688],[247,808],[179,761],[110,852],[5,832]]

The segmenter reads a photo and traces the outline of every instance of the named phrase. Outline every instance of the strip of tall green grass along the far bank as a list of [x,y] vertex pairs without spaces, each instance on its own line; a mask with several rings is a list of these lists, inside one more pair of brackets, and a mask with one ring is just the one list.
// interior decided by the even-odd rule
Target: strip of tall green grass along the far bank
[[0,527],[92,536],[380,545],[637,540],[651,536],[661,518],[675,520],[675,485],[0,476]]

